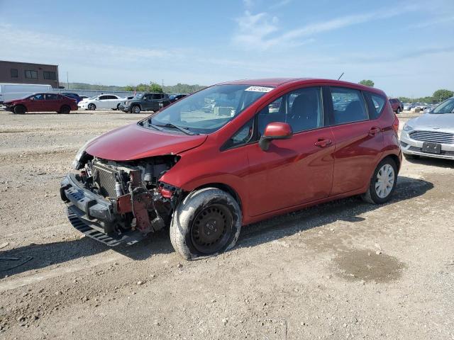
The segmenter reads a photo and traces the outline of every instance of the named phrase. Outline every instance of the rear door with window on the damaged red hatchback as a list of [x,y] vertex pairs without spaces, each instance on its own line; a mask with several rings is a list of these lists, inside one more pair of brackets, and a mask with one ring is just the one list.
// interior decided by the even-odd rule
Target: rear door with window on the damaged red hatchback
[[330,125],[336,150],[331,195],[348,193],[365,186],[383,149],[380,122],[369,114],[362,92],[347,87],[330,87]]

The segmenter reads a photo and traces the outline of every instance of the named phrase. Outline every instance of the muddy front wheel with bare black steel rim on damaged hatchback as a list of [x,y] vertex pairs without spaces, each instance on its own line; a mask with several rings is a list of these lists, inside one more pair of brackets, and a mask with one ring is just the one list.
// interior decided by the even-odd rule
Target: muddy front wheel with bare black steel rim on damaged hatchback
[[187,260],[219,254],[235,246],[242,220],[240,206],[229,193],[202,188],[177,206],[170,222],[170,242]]

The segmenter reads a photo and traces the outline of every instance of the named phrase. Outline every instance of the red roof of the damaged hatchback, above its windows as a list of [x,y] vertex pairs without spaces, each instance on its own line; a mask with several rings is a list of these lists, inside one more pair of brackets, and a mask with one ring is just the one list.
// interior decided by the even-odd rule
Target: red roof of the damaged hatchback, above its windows
[[234,81],[226,81],[221,84],[234,84],[234,85],[255,85],[255,86],[282,86],[284,84],[291,84],[291,83],[326,83],[331,84],[332,86],[354,86],[356,88],[362,88],[365,91],[371,91],[375,93],[384,94],[384,92],[380,89],[376,89],[374,87],[369,87],[361,84],[352,83],[350,81],[342,81],[336,79],[319,79],[319,78],[263,78],[263,79],[241,79],[241,80],[234,80]]

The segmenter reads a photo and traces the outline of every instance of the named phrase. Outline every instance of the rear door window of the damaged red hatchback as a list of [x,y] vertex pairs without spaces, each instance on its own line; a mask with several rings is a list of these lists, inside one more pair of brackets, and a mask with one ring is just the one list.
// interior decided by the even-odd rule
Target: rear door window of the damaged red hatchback
[[334,124],[367,120],[364,98],[360,91],[345,87],[331,87]]

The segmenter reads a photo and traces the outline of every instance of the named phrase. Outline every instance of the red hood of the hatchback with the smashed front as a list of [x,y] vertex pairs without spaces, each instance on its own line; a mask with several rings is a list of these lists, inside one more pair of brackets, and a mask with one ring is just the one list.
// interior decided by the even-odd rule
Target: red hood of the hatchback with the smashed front
[[198,147],[206,135],[180,135],[142,128],[133,123],[97,137],[85,151],[111,161],[129,161],[164,154],[179,154]]

